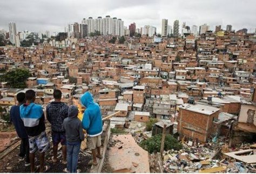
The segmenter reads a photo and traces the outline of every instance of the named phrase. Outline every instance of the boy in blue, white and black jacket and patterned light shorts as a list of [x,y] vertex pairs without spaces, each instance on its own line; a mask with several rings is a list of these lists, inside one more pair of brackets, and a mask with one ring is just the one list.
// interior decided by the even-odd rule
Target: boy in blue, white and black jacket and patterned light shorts
[[44,155],[49,149],[48,137],[45,133],[45,119],[43,107],[35,104],[36,92],[27,90],[25,92],[26,103],[19,107],[19,113],[24,123],[26,133],[29,136],[29,158],[31,173],[35,172],[35,152],[39,151],[39,172],[46,172],[49,165],[44,166]]

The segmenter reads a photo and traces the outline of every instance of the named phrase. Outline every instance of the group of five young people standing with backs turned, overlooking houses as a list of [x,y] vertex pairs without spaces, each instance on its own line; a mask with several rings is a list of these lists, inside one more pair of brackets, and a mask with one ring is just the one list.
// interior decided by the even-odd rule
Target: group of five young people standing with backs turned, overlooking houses
[[[78,108],[68,106],[61,102],[62,92],[53,91],[54,102],[46,107],[46,118],[51,124],[52,138],[52,163],[58,162],[57,151],[59,143],[62,145],[62,163],[67,165],[63,172],[81,172],[77,169],[78,154],[81,142],[87,133],[87,147],[92,150],[90,164],[97,165],[100,155],[101,134],[103,131],[102,114],[97,103],[93,102],[90,92],[85,92],[80,102],[86,107],[82,121],[77,118]],[[17,94],[18,104],[11,107],[10,119],[13,122],[18,136],[21,138],[20,161],[25,161],[25,166],[30,165],[31,172],[46,172],[49,165],[44,165],[45,152],[50,147],[50,142],[45,132],[45,116],[43,107],[35,104],[36,93],[27,90]],[[39,163],[36,151],[39,151]]]

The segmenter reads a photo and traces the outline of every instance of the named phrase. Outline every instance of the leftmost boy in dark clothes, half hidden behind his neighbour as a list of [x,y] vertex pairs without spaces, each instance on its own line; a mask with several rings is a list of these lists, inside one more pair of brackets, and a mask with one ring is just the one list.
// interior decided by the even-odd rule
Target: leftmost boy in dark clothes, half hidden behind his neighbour
[[25,158],[25,166],[29,166],[29,137],[26,134],[25,127],[21,116],[19,115],[19,106],[25,103],[25,93],[19,92],[16,96],[18,105],[14,105],[10,110],[10,120],[14,124],[18,137],[21,139],[21,145],[19,147],[19,161],[23,161]]

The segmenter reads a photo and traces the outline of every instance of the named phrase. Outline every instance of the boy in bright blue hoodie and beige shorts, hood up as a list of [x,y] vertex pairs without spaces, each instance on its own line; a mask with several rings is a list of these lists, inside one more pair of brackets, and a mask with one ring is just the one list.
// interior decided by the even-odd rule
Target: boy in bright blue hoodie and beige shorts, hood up
[[86,107],[82,125],[89,136],[87,147],[92,150],[93,161],[90,164],[97,165],[97,157],[102,159],[100,155],[100,146],[102,145],[101,134],[103,131],[102,113],[100,112],[99,105],[93,102],[90,92],[85,92],[80,101]]

